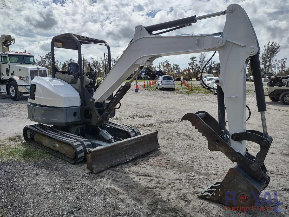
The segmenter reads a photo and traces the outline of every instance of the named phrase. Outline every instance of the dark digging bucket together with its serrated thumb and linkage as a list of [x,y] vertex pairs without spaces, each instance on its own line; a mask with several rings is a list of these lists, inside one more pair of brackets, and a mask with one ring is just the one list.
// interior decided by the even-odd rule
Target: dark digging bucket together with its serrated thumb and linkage
[[[256,157],[246,150],[243,156],[236,152],[230,145],[230,138],[221,137],[218,121],[205,111],[185,114],[181,120],[188,120],[208,140],[210,151],[221,151],[232,162],[236,162],[234,168],[230,168],[223,181],[217,181],[203,190],[197,196],[221,203],[228,207],[251,207],[257,202],[259,193],[264,190],[270,182],[266,174],[266,167],[262,161],[268,148],[272,143],[271,137],[263,137],[263,134],[255,130],[232,134],[231,139],[240,141],[243,139],[254,141],[260,144],[261,150]],[[226,135],[229,131],[224,130]],[[263,143],[262,143],[263,142]],[[263,145],[262,145],[263,144]],[[261,162],[260,164],[258,162]]]

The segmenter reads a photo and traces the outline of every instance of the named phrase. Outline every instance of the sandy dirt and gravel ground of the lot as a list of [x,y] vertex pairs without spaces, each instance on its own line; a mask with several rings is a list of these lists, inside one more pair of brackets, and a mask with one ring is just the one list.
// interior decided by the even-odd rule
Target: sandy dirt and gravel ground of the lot
[[[247,82],[252,112],[247,129],[262,131],[253,88]],[[277,192],[275,199],[283,202],[283,211],[276,213],[225,211],[223,205],[197,198],[235,165],[223,153],[209,151],[205,137],[181,121],[184,114],[200,110],[217,118],[216,95],[142,87],[135,93],[131,88],[113,120],[141,133],[158,130],[160,148],[97,174],[84,163],[71,165],[22,143],[23,127],[33,124],[27,118],[27,99],[15,102],[0,94],[0,216],[289,216],[289,107],[280,102],[266,97],[273,137],[265,160],[271,177],[266,191],[272,201]],[[260,147],[248,142],[247,148],[255,155]]]

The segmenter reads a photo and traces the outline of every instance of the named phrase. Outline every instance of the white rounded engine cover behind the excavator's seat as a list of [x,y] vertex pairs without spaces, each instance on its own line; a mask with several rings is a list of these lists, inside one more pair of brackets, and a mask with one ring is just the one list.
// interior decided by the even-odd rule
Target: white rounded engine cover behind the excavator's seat
[[28,102],[52,107],[80,106],[79,93],[68,83],[58,78],[35,77],[31,84],[36,84],[35,100]]

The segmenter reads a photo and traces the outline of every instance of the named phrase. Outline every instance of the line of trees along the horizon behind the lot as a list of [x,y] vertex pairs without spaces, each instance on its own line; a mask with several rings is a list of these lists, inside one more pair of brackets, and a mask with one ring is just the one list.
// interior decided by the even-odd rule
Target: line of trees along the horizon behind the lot
[[[260,56],[260,62],[262,65],[262,72],[271,72],[276,75],[284,76],[289,74],[289,68],[286,69],[286,61],[287,58],[281,58],[280,60],[275,59],[274,57],[277,56],[277,54],[280,52],[280,44],[277,44],[276,42],[268,42],[266,45],[264,45],[264,49],[262,50],[262,55]],[[112,67],[118,60],[119,56],[116,56],[116,58],[111,58],[111,64]],[[208,61],[207,53],[201,53],[199,55],[199,59],[197,60],[197,57],[192,56],[190,58],[190,62],[188,62],[188,67],[190,68],[190,71],[192,72],[192,76],[198,76],[200,71],[202,70],[205,63]],[[52,74],[52,61],[51,61],[51,52],[48,52],[44,57],[44,67],[46,67],[49,71],[49,74]],[[60,62],[59,60],[55,60],[55,66],[62,71],[67,70],[67,64],[68,62],[75,62],[74,59],[68,59],[64,62]],[[96,57],[96,58],[90,58],[83,60],[84,64],[84,71],[89,72],[90,69],[88,67],[88,63],[90,63],[91,67],[93,69],[96,69],[96,73],[99,75],[99,77],[104,77],[105,72],[108,73],[108,56],[105,56],[105,59],[103,57]],[[36,61],[36,64],[40,64],[39,61]],[[211,64],[216,67],[220,67],[220,63],[216,61],[212,61]],[[94,66],[95,67],[94,67]],[[210,64],[207,64],[204,73],[208,72],[208,67]],[[151,65],[152,70],[159,70],[164,71],[168,73],[169,75],[173,75],[174,73],[181,73],[183,70],[181,70],[178,63],[171,63],[169,60],[163,60],[158,65]],[[247,66],[247,73],[248,76],[252,75],[250,65]]]

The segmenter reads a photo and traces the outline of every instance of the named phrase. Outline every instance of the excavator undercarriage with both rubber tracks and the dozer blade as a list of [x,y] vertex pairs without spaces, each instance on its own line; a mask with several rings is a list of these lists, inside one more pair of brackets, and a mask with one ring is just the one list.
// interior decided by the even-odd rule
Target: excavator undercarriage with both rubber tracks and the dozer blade
[[87,167],[92,172],[160,147],[156,130],[140,135],[138,129],[116,122],[107,122],[101,128],[35,124],[25,126],[23,135],[26,142],[69,163],[87,160]]

